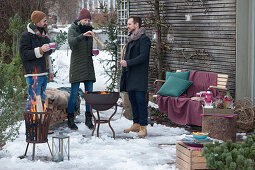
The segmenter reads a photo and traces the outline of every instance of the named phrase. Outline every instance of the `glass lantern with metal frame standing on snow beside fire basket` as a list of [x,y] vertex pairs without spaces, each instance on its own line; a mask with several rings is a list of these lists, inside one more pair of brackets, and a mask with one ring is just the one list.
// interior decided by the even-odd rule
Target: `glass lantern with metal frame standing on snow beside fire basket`
[[63,132],[58,135],[52,136],[52,154],[53,161],[64,161],[70,159],[70,137],[65,136]]

